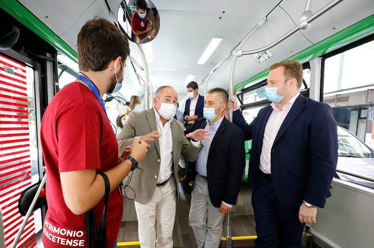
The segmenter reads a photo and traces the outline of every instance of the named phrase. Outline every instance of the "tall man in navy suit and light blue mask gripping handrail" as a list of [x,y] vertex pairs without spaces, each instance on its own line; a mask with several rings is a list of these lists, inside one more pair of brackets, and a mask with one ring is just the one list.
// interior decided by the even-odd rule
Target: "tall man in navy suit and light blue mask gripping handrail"
[[233,122],[252,140],[248,185],[253,184],[256,248],[300,248],[305,223],[331,196],[338,161],[337,124],[329,105],[299,93],[298,61],[273,64],[265,88],[271,105],[248,124],[230,100]]

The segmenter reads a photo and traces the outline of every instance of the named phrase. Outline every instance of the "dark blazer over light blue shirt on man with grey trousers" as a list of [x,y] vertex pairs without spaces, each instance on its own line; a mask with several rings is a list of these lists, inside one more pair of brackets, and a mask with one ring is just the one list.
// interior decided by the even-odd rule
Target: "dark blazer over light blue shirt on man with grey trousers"
[[[197,119],[185,134],[204,129],[206,124],[205,118]],[[219,208],[222,201],[236,205],[245,166],[243,131],[223,117],[212,139],[207,160],[208,191],[213,206]],[[186,165],[186,174],[184,189],[189,191],[187,188],[197,175],[195,162]]]

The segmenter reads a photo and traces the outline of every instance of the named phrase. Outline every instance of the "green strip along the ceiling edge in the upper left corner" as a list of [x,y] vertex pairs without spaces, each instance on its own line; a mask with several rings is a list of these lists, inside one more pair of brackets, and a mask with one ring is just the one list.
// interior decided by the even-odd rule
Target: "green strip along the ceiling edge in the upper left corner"
[[78,62],[77,53],[17,0],[0,0],[0,8],[8,12],[64,55]]

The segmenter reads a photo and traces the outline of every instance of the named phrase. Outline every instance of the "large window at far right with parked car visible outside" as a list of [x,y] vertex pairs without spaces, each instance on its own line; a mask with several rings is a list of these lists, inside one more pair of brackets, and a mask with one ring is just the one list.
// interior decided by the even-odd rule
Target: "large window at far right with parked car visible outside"
[[[374,176],[374,41],[324,59],[323,102],[338,124],[338,169]],[[349,132],[348,132],[349,131]],[[374,183],[338,173],[343,180]]]

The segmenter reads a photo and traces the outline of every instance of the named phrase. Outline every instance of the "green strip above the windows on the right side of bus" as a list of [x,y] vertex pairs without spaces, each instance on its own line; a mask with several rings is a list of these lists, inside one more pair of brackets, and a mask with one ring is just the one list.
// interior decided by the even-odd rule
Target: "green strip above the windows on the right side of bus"
[[[337,50],[345,45],[355,42],[361,38],[364,38],[374,33],[374,14],[361,20],[358,23],[353,24],[348,28],[331,35],[330,37],[321,40],[320,42],[312,45],[311,47],[292,55],[286,60],[296,59],[301,63],[312,60],[313,58],[327,54],[334,50]],[[240,58],[239,58],[240,62]],[[249,79],[235,85],[234,90],[242,90],[249,83],[256,83],[267,78],[269,69],[266,69]]]

